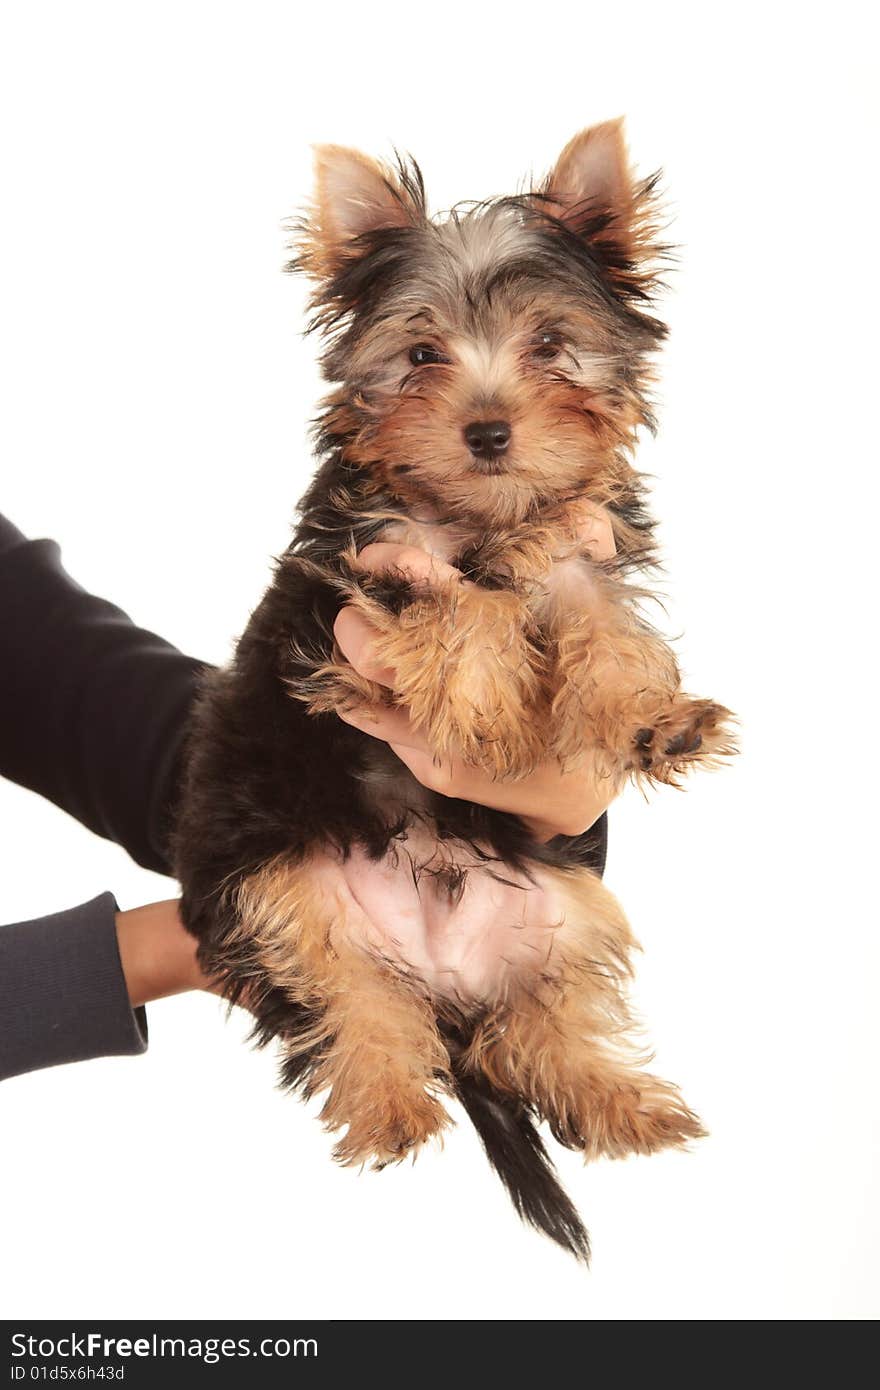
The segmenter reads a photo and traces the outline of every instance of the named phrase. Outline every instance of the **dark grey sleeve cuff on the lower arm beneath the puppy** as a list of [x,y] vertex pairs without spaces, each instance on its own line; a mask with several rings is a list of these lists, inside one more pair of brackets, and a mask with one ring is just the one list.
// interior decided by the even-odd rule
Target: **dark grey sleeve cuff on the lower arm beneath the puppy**
[[117,901],[0,927],[0,1080],[63,1062],[146,1052],[117,945]]

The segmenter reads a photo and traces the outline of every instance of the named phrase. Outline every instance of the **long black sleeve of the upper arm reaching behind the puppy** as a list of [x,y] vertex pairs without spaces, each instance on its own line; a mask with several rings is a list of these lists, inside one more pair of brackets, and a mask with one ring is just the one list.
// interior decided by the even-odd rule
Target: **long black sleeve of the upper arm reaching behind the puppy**
[[0,517],[0,776],[158,873],[203,669]]

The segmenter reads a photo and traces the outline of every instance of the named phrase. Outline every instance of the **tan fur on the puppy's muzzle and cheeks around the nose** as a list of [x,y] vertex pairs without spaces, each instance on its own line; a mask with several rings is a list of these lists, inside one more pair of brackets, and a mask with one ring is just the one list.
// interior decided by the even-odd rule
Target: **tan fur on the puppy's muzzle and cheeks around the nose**
[[[571,379],[541,381],[524,377],[520,354],[542,316],[551,316],[551,304],[535,306],[527,322],[513,313],[505,317],[499,306],[498,327],[485,331],[484,352],[471,350],[449,328],[439,336],[450,366],[432,367],[418,389],[400,393],[399,379],[409,370],[403,349],[432,336],[413,331],[407,309],[402,307],[399,318],[389,313],[380,329],[364,335],[361,368],[375,378],[393,364],[399,375],[389,379],[388,393],[374,388],[375,404],[349,445],[353,461],[371,464],[405,503],[418,507],[425,491],[437,493],[443,514],[478,517],[489,530],[534,517],[535,495],[581,493],[585,482],[595,500],[612,500],[620,463],[606,480],[609,455],[631,445],[642,411],[626,391],[606,389],[612,378],[603,353],[613,346],[602,343],[598,325],[571,325],[578,339],[591,343],[566,363]],[[503,474],[474,473],[462,428],[480,418],[510,423],[513,441]]]

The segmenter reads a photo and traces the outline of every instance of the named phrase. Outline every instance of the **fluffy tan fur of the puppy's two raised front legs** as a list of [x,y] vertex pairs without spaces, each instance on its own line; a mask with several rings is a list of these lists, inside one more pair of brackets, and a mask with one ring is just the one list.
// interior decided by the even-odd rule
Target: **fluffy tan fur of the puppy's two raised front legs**
[[[681,691],[671,648],[639,612],[645,591],[582,557],[581,514],[574,503],[484,537],[481,563],[507,588],[432,580],[399,616],[350,570],[335,582],[375,628],[373,655],[396,673],[393,691],[335,652],[295,694],[314,712],[403,705],[437,756],[496,780],[585,751],[617,784],[678,784],[691,766],[717,766],[737,751],[730,710]],[[393,521],[388,534],[418,528]]]

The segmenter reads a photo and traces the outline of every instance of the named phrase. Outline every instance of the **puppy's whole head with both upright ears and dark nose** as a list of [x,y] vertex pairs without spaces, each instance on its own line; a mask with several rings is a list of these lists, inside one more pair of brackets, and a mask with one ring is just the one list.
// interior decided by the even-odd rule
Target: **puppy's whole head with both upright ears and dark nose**
[[414,165],[320,149],[292,267],[341,384],[325,442],[428,514],[512,524],[601,492],[649,423],[651,192],[620,122],[576,136],[539,189],[442,220]]

